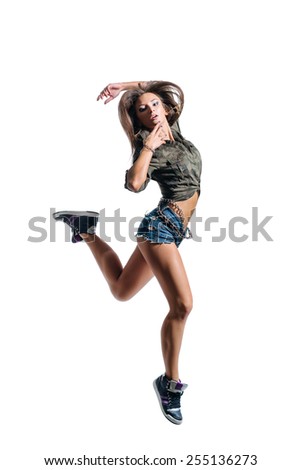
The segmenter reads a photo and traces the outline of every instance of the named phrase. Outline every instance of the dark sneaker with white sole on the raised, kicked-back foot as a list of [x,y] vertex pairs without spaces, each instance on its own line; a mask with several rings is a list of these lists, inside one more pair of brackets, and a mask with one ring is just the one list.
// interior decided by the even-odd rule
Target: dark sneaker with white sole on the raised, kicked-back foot
[[52,214],[52,217],[67,224],[72,230],[72,243],[78,243],[83,241],[80,233],[95,234],[99,214],[92,211],[60,211]]

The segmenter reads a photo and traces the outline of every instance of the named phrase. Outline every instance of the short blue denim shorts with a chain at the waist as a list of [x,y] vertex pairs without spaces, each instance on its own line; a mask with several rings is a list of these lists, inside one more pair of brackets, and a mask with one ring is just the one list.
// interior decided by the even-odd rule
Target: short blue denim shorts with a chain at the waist
[[178,247],[184,238],[191,238],[191,232],[170,207],[158,206],[142,219],[136,237],[151,243],[175,243]]

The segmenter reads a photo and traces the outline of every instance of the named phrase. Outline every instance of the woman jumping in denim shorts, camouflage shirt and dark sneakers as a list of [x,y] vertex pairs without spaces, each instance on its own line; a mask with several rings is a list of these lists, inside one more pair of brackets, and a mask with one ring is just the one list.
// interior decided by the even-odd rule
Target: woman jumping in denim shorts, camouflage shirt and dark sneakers
[[117,300],[129,300],[153,276],[157,278],[169,311],[161,329],[165,373],[153,385],[164,416],[181,424],[181,396],[187,384],[179,378],[178,362],[192,294],[178,248],[192,236],[187,224],[200,195],[201,155],[180,132],[184,95],[178,85],[111,83],[97,100],[107,104],[121,92],[119,119],[133,152],[125,188],[140,192],[154,180],[162,193],[157,207],[141,221],[134,252],[123,267],[113,249],[95,234],[97,212],[60,211],[53,217],[71,227],[72,242],[86,242]]

